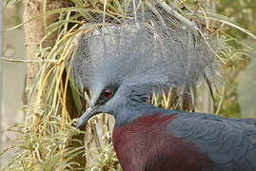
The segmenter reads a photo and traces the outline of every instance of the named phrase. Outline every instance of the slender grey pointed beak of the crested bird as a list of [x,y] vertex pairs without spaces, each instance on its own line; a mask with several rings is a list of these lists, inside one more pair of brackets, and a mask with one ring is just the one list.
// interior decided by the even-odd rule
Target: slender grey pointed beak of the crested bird
[[81,127],[82,125],[87,123],[91,117],[93,117],[97,113],[100,113],[97,111],[97,109],[98,109],[98,106],[89,107],[87,111],[77,120],[76,128]]

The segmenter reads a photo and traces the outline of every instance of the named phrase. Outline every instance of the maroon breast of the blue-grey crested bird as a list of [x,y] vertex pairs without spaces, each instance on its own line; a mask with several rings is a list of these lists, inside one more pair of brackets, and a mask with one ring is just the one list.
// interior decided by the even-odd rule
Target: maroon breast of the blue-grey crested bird
[[209,167],[194,144],[168,132],[167,124],[174,119],[175,115],[153,114],[114,127],[113,145],[124,171],[205,171]]

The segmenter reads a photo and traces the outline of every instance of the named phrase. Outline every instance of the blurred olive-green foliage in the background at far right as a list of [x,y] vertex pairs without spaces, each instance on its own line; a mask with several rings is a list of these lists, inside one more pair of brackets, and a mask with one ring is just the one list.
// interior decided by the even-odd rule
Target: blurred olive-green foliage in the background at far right
[[[228,17],[233,22],[237,23],[239,26],[246,28],[256,33],[256,1],[255,0],[219,0],[216,3],[216,11],[226,17]],[[225,34],[227,37],[227,44],[232,49],[233,53],[236,54],[232,64],[226,67],[226,73],[224,74],[226,82],[226,93],[225,93],[225,103],[220,113],[227,117],[242,117],[240,104],[238,99],[246,98],[245,93],[240,93],[238,95],[237,85],[246,85],[246,82],[240,79],[237,80],[239,73],[246,68],[250,63],[250,58],[248,58],[248,52],[255,51],[255,47],[250,47],[245,43],[246,40],[251,40],[251,44],[255,43],[246,33],[232,27],[225,29]],[[250,45],[251,45],[250,44]],[[250,55],[252,57],[253,55]],[[254,56],[255,58],[256,56]],[[253,78],[251,78],[253,80]],[[256,79],[254,77],[254,79]],[[245,86],[244,86],[245,87]],[[245,87],[246,88],[246,87]],[[250,92],[253,93],[253,92]],[[252,99],[251,99],[252,100]],[[241,101],[240,101],[241,102]],[[251,101],[253,103],[255,101]],[[250,104],[251,104],[250,103]],[[244,105],[245,106],[245,105]],[[244,113],[243,117],[256,117],[256,110],[252,115],[250,113]]]

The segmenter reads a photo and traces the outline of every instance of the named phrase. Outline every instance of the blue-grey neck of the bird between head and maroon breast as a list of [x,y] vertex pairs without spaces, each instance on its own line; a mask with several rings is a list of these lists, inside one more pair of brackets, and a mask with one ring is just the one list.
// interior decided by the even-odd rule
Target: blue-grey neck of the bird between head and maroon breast
[[115,125],[125,125],[140,117],[149,116],[155,113],[167,113],[167,109],[159,108],[148,103],[129,103],[119,108],[115,115]]

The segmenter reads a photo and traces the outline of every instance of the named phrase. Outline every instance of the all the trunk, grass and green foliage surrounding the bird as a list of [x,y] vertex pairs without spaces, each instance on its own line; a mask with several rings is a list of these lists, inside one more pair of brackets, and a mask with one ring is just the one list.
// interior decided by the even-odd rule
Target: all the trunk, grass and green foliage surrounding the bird
[[[256,117],[255,0],[164,2],[220,37],[222,46],[216,60],[221,65],[217,71],[221,77],[210,86],[197,87],[197,103],[192,103],[190,96],[181,96],[184,89],[176,88],[153,97],[152,103],[225,117]],[[25,120],[9,129],[18,136],[10,146],[1,148],[1,154],[14,151],[3,170],[121,170],[111,145],[112,118],[102,114],[91,119],[83,131],[73,127],[75,118],[88,107],[90,92],[75,87],[67,63],[75,51],[74,37],[96,27],[87,25],[93,15],[106,7],[108,16],[115,18],[125,12],[127,3],[128,0],[26,0],[22,6],[17,0],[4,1],[5,14],[13,7],[24,9],[24,18],[17,16],[16,24],[6,31],[24,27],[27,50],[26,60],[5,60],[26,63],[28,71]]]

